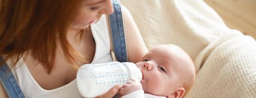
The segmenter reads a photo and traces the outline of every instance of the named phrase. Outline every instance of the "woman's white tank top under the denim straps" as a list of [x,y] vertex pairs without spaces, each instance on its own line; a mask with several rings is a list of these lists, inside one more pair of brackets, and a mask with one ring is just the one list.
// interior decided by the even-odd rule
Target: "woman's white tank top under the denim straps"
[[[96,52],[92,63],[111,62],[110,40],[105,15],[91,25],[91,31],[96,42]],[[10,61],[7,63],[10,65]],[[26,98],[83,98],[77,89],[76,79],[53,90],[43,89],[32,77],[23,59],[18,61],[12,72]]]

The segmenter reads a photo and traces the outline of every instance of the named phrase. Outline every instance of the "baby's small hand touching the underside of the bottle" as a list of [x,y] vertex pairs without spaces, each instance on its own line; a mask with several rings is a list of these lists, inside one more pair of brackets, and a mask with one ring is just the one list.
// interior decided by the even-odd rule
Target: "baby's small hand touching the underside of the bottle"
[[120,95],[124,96],[133,91],[142,90],[142,85],[137,79],[131,79],[127,83],[123,84],[120,90]]

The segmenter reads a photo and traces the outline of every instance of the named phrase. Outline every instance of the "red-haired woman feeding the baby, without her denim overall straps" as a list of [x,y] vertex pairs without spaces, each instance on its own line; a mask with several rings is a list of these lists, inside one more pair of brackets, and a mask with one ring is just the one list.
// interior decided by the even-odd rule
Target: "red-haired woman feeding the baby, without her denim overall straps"
[[[147,52],[135,21],[122,8],[128,62]],[[110,62],[111,0],[0,0],[0,55],[27,98],[81,98],[75,77],[85,63]],[[95,24],[93,24],[96,22]],[[98,98],[112,98],[114,86]],[[0,95],[6,92],[0,84]]]

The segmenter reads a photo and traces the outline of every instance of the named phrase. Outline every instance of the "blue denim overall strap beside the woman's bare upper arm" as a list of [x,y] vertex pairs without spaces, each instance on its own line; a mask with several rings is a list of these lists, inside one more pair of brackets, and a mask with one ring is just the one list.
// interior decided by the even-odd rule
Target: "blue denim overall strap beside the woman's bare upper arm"
[[113,51],[117,61],[128,62],[123,17],[119,0],[112,0],[114,13],[109,15]]

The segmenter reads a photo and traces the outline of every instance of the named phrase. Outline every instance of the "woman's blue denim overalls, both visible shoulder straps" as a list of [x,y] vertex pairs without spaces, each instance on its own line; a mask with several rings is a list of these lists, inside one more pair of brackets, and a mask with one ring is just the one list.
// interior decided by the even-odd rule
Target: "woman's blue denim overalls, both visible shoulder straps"
[[[113,44],[113,52],[117,61],[128,62],[125,33],[123,27],[123,18],[119,0],[112,0],[114,13],[109,15],[111,37]],[[3,58],[0,56],[0,61]],[[10,71],[7,63],[0,66],[0,82],[2,83],[9,98],[25,98],[22,90],[20,89],[16,78],[12,71]],[[117,98],[116,95],[113,98]]]

